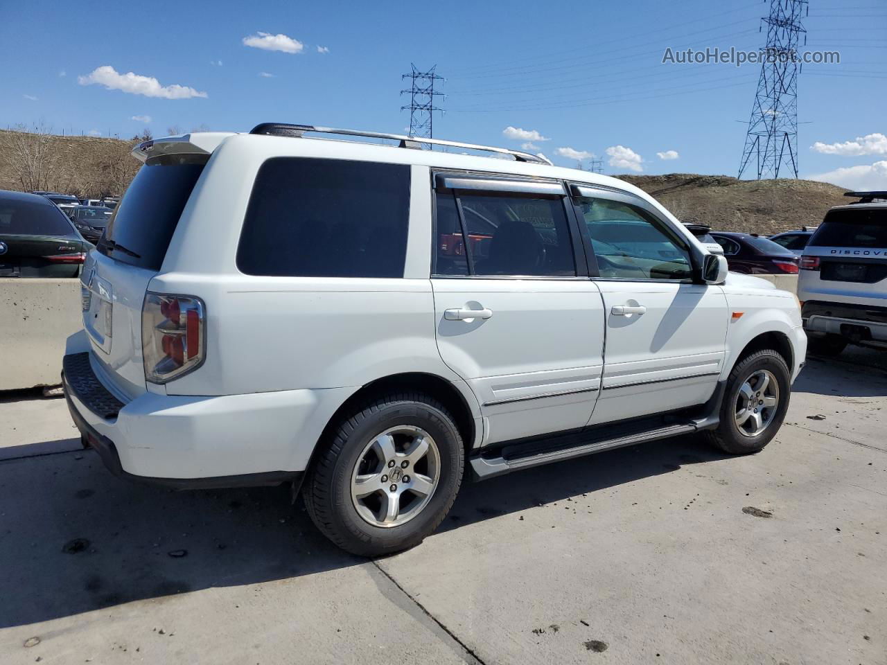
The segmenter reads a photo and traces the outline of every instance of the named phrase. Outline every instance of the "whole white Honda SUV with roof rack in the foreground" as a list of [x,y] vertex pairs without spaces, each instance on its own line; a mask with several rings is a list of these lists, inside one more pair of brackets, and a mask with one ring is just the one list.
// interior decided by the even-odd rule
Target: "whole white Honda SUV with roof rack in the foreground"
[[138,145],[64,360],[84,444],[134,480],[293,482],[376,555],[428,536],[466,469],[773,439],[805,359],[792,294],[728,276],[630,184],[421,141],[263,124]]

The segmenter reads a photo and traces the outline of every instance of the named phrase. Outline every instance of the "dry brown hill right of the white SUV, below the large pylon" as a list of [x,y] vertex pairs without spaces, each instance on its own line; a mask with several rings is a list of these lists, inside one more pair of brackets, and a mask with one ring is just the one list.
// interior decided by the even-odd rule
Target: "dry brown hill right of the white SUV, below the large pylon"
[[683,222],[719,231],[769,235],[816,226],[831,206],[850,201],[845,190],[812,180],[737,180],[729,176],[616,176],[659,200]]

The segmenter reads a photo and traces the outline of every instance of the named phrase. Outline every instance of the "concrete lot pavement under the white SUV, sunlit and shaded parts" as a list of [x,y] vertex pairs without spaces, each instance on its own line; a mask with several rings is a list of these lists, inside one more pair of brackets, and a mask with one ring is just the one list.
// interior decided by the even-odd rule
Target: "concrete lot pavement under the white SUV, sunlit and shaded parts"
[[468,484],[374,562],[285,488],[118,481],[62,400],[7,395],[0,662],[884,665],[885,360],[811,359],[758,455],[685,438]]

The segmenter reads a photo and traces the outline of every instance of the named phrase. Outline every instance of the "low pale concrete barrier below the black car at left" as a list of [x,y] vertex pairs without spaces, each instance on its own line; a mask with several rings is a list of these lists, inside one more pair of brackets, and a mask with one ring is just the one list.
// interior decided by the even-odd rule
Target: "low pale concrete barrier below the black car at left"
[[0,390],[58,384],[81,327],[79,279],[0,278]]

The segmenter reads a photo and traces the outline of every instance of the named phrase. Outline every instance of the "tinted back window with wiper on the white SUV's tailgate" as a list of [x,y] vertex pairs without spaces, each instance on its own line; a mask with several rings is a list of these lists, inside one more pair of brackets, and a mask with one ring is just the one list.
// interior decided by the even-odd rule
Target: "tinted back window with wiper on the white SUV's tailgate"
[[138,169],[108,223],[98,251],[115,261],[160,270],[178,218],[207,156],[153,158]]

